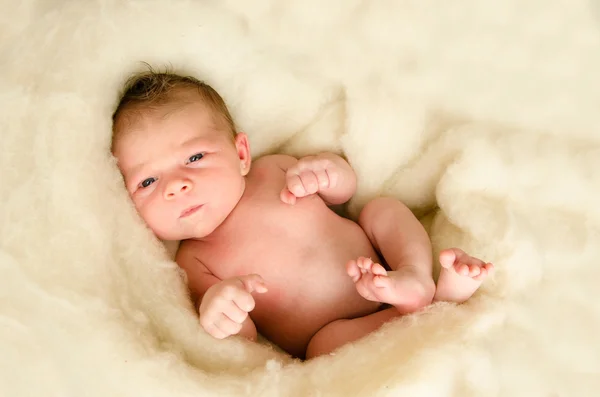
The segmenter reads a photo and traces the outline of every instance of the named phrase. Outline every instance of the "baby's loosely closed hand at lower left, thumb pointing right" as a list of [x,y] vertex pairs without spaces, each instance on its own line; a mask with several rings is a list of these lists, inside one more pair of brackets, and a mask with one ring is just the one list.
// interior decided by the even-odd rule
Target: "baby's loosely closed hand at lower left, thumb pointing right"
[[210,287],[200,303],[200,325],[217,339],[238,334],[254,309],[252,292],[267,292],[261,276],[249,274],[223,280]]

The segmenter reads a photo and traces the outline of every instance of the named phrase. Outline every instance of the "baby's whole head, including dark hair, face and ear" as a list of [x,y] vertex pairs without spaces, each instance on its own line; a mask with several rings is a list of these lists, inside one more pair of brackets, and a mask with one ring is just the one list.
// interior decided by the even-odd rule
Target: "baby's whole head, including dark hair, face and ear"
[[193,77],[134,76],[113,115],[112,153],[127,191],[163,240],[202,238],[239,202],[248,138],[223,99]]

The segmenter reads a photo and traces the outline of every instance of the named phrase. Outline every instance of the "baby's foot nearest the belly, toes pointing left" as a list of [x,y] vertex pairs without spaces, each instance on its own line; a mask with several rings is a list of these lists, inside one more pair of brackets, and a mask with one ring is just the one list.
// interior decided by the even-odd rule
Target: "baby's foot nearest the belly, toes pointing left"
[[431,303],[435,284],[431,275],[414,266],[386,271],[370,258],[359,257],[346,265],[346,271],[363,298],[394,305],[401,313],[412,313]]

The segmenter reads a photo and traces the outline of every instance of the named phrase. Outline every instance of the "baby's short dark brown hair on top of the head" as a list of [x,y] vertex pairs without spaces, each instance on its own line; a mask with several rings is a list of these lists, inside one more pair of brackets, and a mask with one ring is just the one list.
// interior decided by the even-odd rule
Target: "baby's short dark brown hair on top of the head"
[[[169,70],[148,70],[135,74],[125,83],[123,94],[113,113],[113,144],[117,126],[125,114],[138,114],[143,110],[153,110],[163,105],[182,101],[181,94],[197,90],[199,100],[215,114],[217,121],[223,122],[232,136],[235,136],[235,123],[225,101],[210,85],[192,76],[182,76]],[[128,115],[129,116],[129,115]]]

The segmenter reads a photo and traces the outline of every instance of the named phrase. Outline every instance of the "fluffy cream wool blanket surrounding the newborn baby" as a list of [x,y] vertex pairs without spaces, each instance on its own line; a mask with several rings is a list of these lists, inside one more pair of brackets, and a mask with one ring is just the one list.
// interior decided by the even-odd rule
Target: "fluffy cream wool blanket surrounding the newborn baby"
[[[598,1],[1,3],[0,396],[600,395]],[[307,363],[215,341],[108,154],[142,61],[496,276]]]

